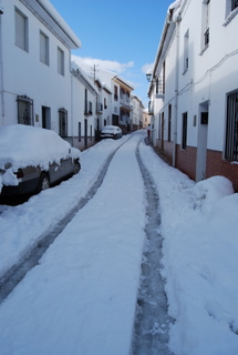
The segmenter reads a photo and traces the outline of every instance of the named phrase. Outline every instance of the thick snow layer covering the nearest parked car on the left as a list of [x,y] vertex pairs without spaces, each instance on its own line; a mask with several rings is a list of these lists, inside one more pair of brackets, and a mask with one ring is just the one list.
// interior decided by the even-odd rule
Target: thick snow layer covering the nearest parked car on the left
[[79,158],[80,151],[51,130],[13,124],[0,128],[0,169],[11,164],[13,170],[28,165],[49,168],[64,158]]

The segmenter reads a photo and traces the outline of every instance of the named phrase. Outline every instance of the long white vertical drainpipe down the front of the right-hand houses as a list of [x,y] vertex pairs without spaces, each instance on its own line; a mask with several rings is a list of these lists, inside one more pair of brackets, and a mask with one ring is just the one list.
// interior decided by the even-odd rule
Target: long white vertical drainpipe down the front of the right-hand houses
[[173,166],[176,166],[177,145],[177,116],[178,116],[178,75],[179,75],[179,24],[180,13],[176,19],[176,63],[175,63],[175,109],[174,109],[174,144],[173,144]]

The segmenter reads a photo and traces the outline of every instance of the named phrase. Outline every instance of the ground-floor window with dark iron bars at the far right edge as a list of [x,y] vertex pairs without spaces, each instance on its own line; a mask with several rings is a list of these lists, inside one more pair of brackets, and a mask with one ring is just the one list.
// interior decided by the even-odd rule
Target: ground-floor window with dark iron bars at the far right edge
[[225,159],[238,161],[238,91],[227,97]]

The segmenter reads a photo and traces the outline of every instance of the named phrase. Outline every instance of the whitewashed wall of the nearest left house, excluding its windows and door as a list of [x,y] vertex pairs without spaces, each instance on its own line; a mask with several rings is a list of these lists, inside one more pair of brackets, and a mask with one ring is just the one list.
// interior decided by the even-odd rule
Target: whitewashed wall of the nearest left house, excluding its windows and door
[[[64,108],[71,116],[70,50],[23,3],[3,0],[2,4],[4,124],[18,122],[15,100],[27,95],[33,100],[34,118],[39,115],[34,124],[42,124],[41,108],[49,106],[51,128],[59,132],[59,109]],[[14,44],[14,7],[29,19],[28,52]],[[50,65],[40,61],[40,30],[50,39]],[[64,51],[64,75],[58,73],[58,47]]]

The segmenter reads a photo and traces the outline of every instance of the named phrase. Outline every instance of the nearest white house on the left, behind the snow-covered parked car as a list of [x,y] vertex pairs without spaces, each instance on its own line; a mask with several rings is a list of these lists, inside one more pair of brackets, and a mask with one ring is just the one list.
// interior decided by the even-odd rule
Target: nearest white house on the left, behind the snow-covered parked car
[[73,135],[71,49],[79,38],[48,0],[1,0],[0,124]]

